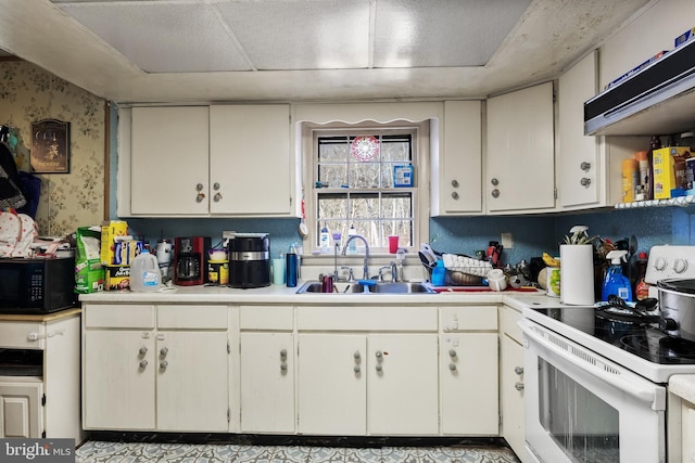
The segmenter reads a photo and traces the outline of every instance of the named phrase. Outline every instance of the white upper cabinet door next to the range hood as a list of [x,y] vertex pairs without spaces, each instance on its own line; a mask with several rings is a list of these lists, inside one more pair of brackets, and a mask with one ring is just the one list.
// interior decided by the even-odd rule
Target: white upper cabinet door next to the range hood
[[556,176],[563,208],[601,205],[605,188],[598,140],[584,134],[584,102],[597,91],[596,60],[593,52],[559,78]]

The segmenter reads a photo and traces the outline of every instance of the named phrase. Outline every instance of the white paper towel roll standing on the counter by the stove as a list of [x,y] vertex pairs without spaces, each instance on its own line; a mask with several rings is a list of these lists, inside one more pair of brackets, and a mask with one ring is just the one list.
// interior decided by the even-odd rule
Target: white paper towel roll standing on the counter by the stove
[[560,245],[560,303],[570,306],[594,304],[594,246]]

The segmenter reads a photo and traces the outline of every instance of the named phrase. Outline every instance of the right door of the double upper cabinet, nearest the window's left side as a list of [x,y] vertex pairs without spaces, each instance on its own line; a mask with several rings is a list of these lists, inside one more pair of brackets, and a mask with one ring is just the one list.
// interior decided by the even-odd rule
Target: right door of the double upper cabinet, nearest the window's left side
[[210,211],[291,214],[290,106],[210,107]]

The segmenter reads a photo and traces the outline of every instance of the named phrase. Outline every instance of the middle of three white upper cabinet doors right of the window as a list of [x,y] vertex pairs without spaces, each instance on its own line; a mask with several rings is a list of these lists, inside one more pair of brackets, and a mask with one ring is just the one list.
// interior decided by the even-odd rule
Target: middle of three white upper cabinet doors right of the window
[[484,194],[490,213],[555,207],[553,83],[488,100]]

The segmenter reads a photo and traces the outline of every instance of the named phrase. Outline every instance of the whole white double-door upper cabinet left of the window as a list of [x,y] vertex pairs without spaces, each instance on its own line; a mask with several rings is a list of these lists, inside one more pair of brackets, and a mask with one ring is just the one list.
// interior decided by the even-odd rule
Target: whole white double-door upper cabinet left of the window
[[[290,217],[290,106],[123,111],[118,215]],[[129,210],[124,207],[129,204]]]

